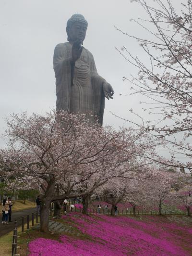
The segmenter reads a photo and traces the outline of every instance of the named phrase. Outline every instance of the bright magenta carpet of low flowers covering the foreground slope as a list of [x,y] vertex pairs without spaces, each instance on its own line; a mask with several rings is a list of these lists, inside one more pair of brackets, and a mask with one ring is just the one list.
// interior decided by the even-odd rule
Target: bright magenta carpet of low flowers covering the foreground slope
[[60,235],[59,241],[37,238],[29,243],[30,256],[192,255],[192,227],[182,218],[176,222],[156,216],[135,219],[81,213],[62,218],[82,235]]

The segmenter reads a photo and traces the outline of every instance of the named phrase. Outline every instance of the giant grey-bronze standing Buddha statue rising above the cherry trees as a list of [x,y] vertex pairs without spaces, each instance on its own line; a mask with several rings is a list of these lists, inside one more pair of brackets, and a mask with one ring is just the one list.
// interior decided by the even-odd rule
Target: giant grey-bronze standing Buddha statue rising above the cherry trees
[[68,42],[55,47],[56,106],[102,125],[105,97],[113,99],[114,91],[98,75],[92,53],[83,47],[87,25],[83,15],[72,15],[66,27]]

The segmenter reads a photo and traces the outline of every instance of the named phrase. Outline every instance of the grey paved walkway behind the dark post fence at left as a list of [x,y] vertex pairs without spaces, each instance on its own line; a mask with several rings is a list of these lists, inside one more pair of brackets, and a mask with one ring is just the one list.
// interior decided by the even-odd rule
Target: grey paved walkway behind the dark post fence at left
[[32,213],[36,213],[36,208],[31,208],[31,209],[25,209],[23,211],[18,211],[18,212],[12,212],[12,222],[9,222],[9,225],[4,225],[2,224],[2,217],[0,218],[0,237],[9,233],[10,231],[13,230],[14,228],[14,221],[17,218],[18,219],[18,226],[21,225],[21,217],[24,217],[24,222],[27,222],[27,215],[30,215],[30,219],[31,219],[31,214]]

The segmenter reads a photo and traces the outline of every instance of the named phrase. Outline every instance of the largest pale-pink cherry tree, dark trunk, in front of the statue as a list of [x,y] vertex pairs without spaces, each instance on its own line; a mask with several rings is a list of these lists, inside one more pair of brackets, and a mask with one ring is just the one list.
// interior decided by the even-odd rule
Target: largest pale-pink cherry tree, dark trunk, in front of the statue
[[6,123],[7,148],[0,150],[1,168],[42,190],[40,221],[45,232],[51,202],[91,194],[113,177],[114,170],[125,172],[133,157],[152,148],[140,131],[103,128],[84,115],[13,114]]

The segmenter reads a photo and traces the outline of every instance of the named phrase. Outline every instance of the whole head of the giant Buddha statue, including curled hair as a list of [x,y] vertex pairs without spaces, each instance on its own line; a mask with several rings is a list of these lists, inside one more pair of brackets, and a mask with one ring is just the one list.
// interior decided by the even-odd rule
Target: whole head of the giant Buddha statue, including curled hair
[[71,43],[76,40],[80,40],[83,44],[84,38],[86,36],[88,23],[84,16],[81,14],[73,14],[72,17],[67,21],[67,40]]

